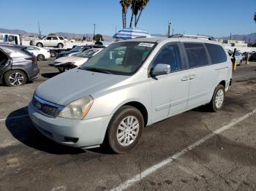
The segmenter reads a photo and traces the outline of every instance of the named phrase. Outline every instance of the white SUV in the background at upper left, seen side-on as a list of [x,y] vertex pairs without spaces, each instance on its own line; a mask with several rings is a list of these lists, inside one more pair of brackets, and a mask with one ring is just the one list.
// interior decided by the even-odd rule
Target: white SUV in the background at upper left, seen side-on
[[31,40],[30,45],[37,47],[59,47],[63,48],[66,44],[63,36],[44,36],[42,39]]

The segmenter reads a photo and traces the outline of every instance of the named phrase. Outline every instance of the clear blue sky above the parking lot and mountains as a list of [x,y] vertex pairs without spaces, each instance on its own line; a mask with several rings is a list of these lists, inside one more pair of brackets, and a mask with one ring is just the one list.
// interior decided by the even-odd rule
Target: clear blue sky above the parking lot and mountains
[[[0,28],[20,29],[42,34],[69,32],[113,36],[121,30],[119,0],[0,0]],[[6,7],[6,9],[3,9]],[[149,34],[204,34],[229,36],[256,32],[253,15],[256,0],[150,0],[138,28]],[[127,14],[129,25],[131,10]]]

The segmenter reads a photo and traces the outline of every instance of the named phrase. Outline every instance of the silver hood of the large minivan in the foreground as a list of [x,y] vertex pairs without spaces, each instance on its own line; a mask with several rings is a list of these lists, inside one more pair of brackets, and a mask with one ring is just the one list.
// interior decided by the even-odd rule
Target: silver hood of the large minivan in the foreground
[[129,78],[129,76],[103,74],[72,69],[43,82],[35,90],[39,98],[66,106],[86,95],[99,93]]

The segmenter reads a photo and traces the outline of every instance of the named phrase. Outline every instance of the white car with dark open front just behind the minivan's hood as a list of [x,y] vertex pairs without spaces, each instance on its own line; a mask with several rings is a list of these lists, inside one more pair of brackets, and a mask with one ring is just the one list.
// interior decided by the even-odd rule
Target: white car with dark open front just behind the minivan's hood
[[60,72],[68,71],[69,69],[75,69],[86,63],[89,58],[96,55],[102,48],[91,48],[89,50],[75,53],[73,56],[61,57],[54,61],[53,66],[59,69]]

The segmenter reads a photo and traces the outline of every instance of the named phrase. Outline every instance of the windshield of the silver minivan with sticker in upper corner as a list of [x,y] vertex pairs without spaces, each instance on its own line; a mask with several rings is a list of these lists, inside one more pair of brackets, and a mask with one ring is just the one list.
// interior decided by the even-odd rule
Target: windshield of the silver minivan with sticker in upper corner
[[80,69],[109,74],[132,75],[146,60],[156,43],[118,42],[90,58]]

